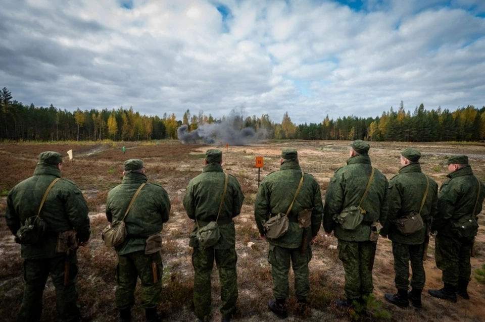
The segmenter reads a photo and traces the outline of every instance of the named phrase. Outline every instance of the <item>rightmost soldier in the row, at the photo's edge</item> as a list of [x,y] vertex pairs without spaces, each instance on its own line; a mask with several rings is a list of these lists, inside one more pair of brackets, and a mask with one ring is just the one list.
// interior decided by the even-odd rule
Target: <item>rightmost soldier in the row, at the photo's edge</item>
[[445,286],[429,294],[456,302],[456,293],[469,299],[470,255],[478,231],[477,215],[485,198],[485,185],[473,175],[466,155],[448,159],[449,178],[438,196],[438,214],[431,230],[437,231],[435,259]]

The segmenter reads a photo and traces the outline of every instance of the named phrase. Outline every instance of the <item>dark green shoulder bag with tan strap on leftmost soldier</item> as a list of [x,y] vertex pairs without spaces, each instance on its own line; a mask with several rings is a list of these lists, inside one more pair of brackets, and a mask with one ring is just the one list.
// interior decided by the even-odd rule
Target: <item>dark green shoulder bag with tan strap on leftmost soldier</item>
[[42,220],[42,218],[40,218],[40,210],[42,210],[45,199],[47,199],[47,195],[51,191],[52,187],[60,179],[61,178],[54,179],[45,190],[44,195],[42,196],[42,200],[40,201],[37,216],[27,218],[25,223],[17,231],[17,234],[15,234],[15,239],[20,244],[29,246],[38,243],[42,239],[42,236],[47,230],[47,224],[45,223],[45,221]]

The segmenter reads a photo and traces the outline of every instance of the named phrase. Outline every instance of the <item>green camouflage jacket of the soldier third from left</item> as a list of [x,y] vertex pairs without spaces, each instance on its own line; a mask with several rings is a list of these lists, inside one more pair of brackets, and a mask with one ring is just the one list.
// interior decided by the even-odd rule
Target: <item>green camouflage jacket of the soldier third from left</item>
[[[225,175],[219,164],[208,164],[202,173],[190,180],[183,197],[183,207],[188,218],[194,220],[193,231],[197,231],[195,219],[200,222],[211,222],[217,219],[217,212],[224,192]],[[244,194],[237,179],[228,176],[227,191],[222,203],[219,221],[231,220],[241,212],[243,207]],[[221,238],[213,246],[214,249],[228,249],[234,247],[236,232],[234,222],[219,225]],[[199,247],[195,238],[190,238],[190,247]]]

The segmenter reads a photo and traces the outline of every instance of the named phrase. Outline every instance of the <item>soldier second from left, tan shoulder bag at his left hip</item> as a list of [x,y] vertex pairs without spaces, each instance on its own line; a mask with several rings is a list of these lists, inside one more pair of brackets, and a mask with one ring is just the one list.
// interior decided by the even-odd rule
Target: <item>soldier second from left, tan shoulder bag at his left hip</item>
[[[141,160],[130,159],[124,162],[123,183],[108,193],[106,218],[110,223],[121,221],[133,195],[143,183],[146,185],[140,190],[124,220],[127,237],[121,245],[115,247],[118,255],[115,301],[121,322],[131,320],[138,277],[141,280],[141,305],[147,320],[159,320],[157,305],[162,291],[162,256],[160,251],[146,255],[145,248],[147,238],[159,234],[163,223],[168,221],[170,199],[161,185],[147,183]],[[153,263],[156,264],[156,277]]]

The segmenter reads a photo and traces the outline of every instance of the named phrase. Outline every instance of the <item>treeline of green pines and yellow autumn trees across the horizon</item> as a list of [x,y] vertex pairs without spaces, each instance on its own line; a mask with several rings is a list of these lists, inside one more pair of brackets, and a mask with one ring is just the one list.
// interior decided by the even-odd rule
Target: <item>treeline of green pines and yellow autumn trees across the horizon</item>
[[186,124],[190,131],[204,123],[231,122],[235,127],[263,130],[270,139],[354,140],[372,141],[478,141],[485,140],[485,106],[468,105],[455,111],[426,110],[420,104],[411,113],[404,103],[397,111],[392,107],[380,117],[325,117],[321,122],[296,125],[286,112],[281,123],[273,122],[267,114],[243,117],[234,113],[214,118],[203,111],[191,115],[187,110],[181,120],[175,114],[163,117],[140,115],[133,108],[96,109],[81,111],[24,105],[13,100],[4,87],[0,91],[1,141],[60,141],[60,140],[151,140],[176,139],[177,128]]

